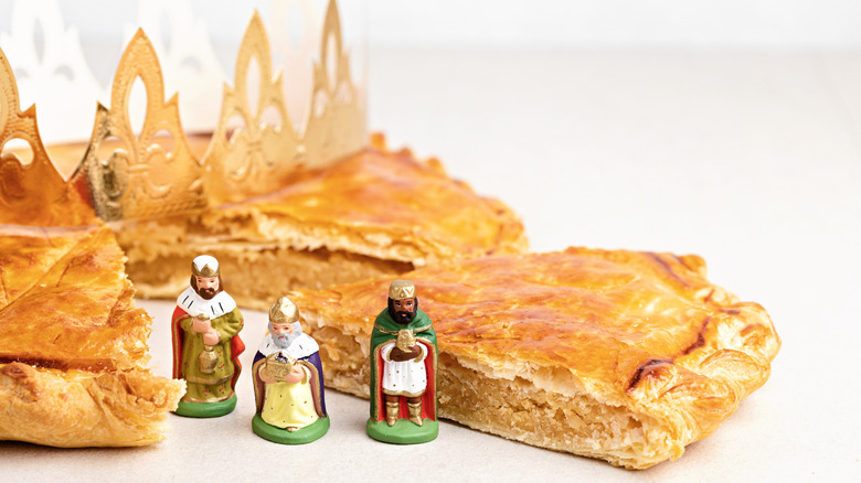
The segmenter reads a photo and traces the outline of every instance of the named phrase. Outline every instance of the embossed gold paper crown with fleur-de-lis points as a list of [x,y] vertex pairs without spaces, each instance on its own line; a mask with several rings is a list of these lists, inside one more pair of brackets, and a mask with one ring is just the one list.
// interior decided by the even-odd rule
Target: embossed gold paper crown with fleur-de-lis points
[[[269,40],[255,12],[238,50],[233,87],[224,85],[221,115],[199,159],[183,131],[177,95],[164,98],[156,50],[138,30],[116,69],[110,106],[97,104],[81,164],[65,181],[42,143],[35,108],[20,110],[15,76],[0,49],[0,208],[8,212],[6,219],[15,222],[15,213],[39,219],[42,211],[74,192],[105,221],[163,216],[276,191],[297,169],[322,168],[361,150],[365,115],[350,76],[334,0],[325,14],[320,58],[308,62],[313,62],[310,108],[299,130],[288,116],[281,74],[273,72]],[[252,63],[259,77],[256,105],[248,100]],[[138,79],[146,88],[147,107],[136,133],[129,93]],[[264,112],[272,111],[276,124],[264,119]],[[3,151],[12,139],[29,144],[29,163]]]

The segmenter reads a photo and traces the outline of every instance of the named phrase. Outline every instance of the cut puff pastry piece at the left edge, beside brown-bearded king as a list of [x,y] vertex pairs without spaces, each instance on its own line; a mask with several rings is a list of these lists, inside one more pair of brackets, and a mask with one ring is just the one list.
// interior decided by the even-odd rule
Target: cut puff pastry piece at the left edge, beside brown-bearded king
[[185,383],[153,376],[105,225],[0,225],[0,440],[125,447],[163,439]]

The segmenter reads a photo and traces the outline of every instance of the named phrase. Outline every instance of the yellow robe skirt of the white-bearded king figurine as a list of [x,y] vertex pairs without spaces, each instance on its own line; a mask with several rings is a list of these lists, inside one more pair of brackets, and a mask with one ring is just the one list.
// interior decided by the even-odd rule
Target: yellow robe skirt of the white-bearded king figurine
[[311,372],[301,367],[305,373],[298,383],[267,383],[266,396],[263,400],[261,417],[276,428],[305,428],[317,420],[311,394]]

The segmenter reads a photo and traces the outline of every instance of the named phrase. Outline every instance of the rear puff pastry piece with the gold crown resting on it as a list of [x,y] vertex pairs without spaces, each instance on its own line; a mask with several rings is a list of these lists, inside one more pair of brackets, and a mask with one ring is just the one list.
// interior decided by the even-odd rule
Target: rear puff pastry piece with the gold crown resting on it
[[397,276],[425,265],[527,250],[518,216],[449,178],[437,160],[373,147],[286,187],[190,215],[113,223],[139,296],[173,298],[188,260],[219,259],[242,307],[295,288]]

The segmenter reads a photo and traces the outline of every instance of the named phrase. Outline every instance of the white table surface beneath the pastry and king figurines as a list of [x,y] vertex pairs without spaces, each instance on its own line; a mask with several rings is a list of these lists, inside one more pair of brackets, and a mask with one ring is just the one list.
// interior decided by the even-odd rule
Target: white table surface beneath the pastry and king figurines
[[[762,303],[783,348],[770,379],[674,462],[630,472],[443,422],[437,440],[364,432],[368,402],[327,391],[302,447],[236,410],[171,415],[166,441],[61,450],[0,442],[0,481],[847,481],[861,474],[861,54],[372,51],[370,124],[390,146],[519,213],[535,251],[698,254]],[[155,318],[170,372],[172,304]],[[244,311],[249,367],[265,316]],[[419,466],[421,464],[421,466]]]

